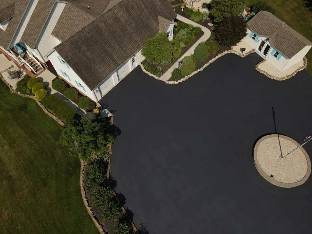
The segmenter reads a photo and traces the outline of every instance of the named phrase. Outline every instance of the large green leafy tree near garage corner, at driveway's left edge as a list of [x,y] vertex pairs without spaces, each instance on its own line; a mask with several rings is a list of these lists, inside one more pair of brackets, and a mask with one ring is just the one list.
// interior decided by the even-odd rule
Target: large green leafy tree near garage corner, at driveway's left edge
[[108,119],[93,119],[91,115],[68,121],[62,128],[60,143],[82,159],[108,151],[108,144],[115,142]]

